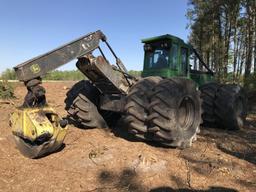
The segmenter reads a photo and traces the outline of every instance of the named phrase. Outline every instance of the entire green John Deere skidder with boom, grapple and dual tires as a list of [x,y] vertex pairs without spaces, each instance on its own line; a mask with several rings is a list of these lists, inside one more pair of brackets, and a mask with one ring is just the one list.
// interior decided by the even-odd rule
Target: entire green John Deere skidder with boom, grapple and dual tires
[[[101,41],[116,65],[105,57]],[[227,129],[243,125],[246,98],[240,86],[213,82],[213,72],[199,54],[177,37],[163,35],[142,42],[145,56],[139,79],[128,74],[101,31],[16,66],[18,79],[28,89],[24,105],[10,120],[20,151],[36,158],[56,150],[68,122],[81,128],[103,128],[122,116],[135,137],[181,148],[191,146],[196,139],[201,117],[205,125]],[[100,56],[92,54],[96,49]],[[196,70],[197,62],[189,64],[192,54],[206,72]],[[47,107],[41,78],[76,58],[77,68],[88,80],[67,92],[68,115],[61,120]]]

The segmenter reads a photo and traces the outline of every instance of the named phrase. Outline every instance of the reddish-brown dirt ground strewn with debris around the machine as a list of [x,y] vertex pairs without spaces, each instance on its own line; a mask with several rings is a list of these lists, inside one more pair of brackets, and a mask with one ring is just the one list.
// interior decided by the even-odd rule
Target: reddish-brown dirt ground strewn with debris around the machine
[[[48,102],[65,116],[64,98],[74,82],[44,83]],[[201,128],[191,148],[143,143],[121,125],[82,130],[69,126],[59,152],[32,160],[16,149],[8,126],[26,89],[0,104],[0,191],[256,191],[256,115],[237,132]]]

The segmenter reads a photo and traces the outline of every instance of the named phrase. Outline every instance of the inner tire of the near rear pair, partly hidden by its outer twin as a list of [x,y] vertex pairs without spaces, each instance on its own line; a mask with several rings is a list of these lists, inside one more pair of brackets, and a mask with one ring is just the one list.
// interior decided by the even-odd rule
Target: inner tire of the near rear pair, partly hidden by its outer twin
[[124,122],[128,131],[135,137],[146,139],[148,106],[153,87],[161,77],[146,77],[138,81],[126,98]]

